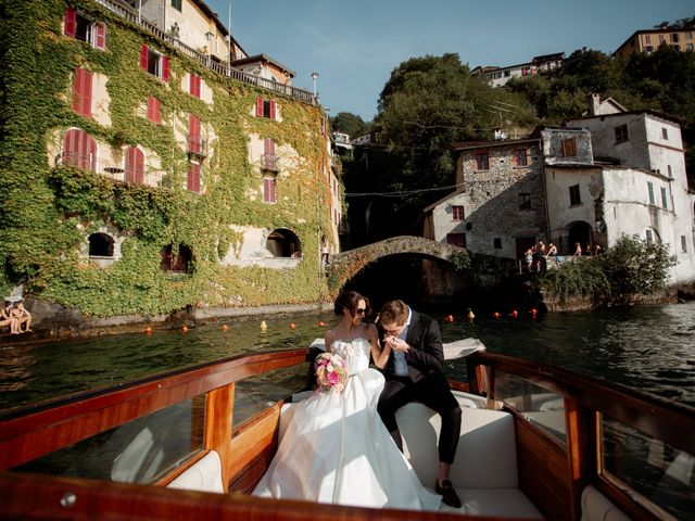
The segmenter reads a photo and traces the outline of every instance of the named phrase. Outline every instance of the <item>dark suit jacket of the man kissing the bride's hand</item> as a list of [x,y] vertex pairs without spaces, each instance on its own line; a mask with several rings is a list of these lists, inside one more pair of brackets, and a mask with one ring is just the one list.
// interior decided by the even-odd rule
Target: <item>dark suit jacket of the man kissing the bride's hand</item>
[[[443,377],[444,350],[439,323],[428,315],[413,308],[410,310],[410,326],[405,339],[410,346],[410,351],[405,354],[408,374],[414,382],[434,374]],[[383,331],[380,334],[383,340]],[[393,357],[392,353],[386,366],[386,378],[393,377]]]

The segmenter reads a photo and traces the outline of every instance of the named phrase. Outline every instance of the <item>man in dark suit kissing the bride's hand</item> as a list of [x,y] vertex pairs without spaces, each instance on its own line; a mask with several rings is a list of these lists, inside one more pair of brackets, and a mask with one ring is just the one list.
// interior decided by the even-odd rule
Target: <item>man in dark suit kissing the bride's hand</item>
[[393,441],[403,452],[395,412],[409,402],[420,402],[442,418],[439,435],[439,472],[434,490],[442,501],[460,508],[460,499],[448,472],[460,432],[460,407],[442,372],[444,352],[437,320],[410,308],[403,301],[387,302],[379,314],[384,345],[392,355],[386,367],[386,385],[378,410]]

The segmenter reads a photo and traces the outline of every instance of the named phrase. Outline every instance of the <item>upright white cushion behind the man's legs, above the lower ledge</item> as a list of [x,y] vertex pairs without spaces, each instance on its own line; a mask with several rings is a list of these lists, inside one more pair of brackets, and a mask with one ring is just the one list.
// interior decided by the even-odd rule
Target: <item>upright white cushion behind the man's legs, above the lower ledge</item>
[[[451,479],[457,488],[518,488],[514,418],[508,412],[462,407],[462,432]],[[420,481],[433,486],[439,467],[439,415],[412,403],[396,414],[404,454]]]

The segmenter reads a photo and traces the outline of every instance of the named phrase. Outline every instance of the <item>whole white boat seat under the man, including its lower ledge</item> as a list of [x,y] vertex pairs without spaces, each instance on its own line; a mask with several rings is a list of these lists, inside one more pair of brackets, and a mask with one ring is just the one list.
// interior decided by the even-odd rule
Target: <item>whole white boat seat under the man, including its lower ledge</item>
[[[519,488],[511,415],[471,408],[466,403],[462,403],[462,412],[460,439],[450,476],[463,507],[442,505],[441,510],[481,517],[543,519]],[[433,488],[439,467],[439,415],[422,404],[410,403],[399,410],[396,420],[406,458],[422,484]]]

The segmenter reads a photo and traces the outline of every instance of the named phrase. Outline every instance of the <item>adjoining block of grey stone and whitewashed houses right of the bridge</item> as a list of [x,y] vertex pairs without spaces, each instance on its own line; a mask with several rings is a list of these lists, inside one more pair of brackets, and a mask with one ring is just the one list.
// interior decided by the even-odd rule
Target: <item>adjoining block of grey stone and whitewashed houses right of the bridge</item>
[[671,284],[695,277],[695,196],[680,125],[592,97],[584,117],[526,139],[455,143],[457,190],[424,211],[424,236],[523,258],[539,240],[561,255],[623,234],[669,245]]

